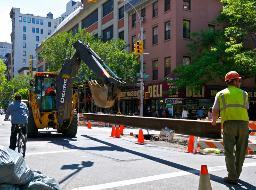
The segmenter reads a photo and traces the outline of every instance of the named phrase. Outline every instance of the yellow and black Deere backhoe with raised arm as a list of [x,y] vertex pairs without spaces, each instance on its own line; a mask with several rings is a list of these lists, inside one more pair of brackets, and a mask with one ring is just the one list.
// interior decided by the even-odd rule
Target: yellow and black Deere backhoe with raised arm
[[[37,72],[30,81],[32,89],[28,90],[28,137],[35,137],[38,129],[53,128],[64,136],[74,137],[77,132],[77,113],[75,105],[77,92],[73,94],[72,86],[81,60],[104,82],[100,86],[95,80],[89,81],[94,101],[99,107],[111,107],[120,89],[126,83],[118,78],[104,61],[82,41],[72,45],[69,57],[65,60],[59,73]],[[71,55],[74,53],[73,57]],[[114,76],[110,77],[105,66]],[[52,84],[56,95],[45,91]]]

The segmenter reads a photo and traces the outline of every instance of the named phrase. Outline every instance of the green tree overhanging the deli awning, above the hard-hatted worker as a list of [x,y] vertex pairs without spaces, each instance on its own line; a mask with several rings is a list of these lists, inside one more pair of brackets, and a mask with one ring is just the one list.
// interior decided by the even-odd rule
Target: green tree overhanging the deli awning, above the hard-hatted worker
[[[190,65],[177,66],[172,72],[179,79],[164,79],[173,82],[177,88],[199,92],[201,87],[222,78],[231,70],[236,70],[243,79],[256,75],[256,0],[222,0],[228,3],[222,14],[213,21],[225,23],[226,28],[215,32],[200,31],[191,34],[189,55],[193,57]],[[246,49],[243,41],[250,42],[253,48]],[[242,41],[242,42],[241,42]],[[195,88],[195,86],[197,87]],[[167,91],[176,93],[176,89]]]

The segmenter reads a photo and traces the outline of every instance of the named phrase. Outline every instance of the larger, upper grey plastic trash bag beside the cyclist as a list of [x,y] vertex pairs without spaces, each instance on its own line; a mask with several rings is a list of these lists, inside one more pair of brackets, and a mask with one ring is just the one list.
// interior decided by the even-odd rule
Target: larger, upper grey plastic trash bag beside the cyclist
[[0,145],[0,184],[25,184],[33,177],[20,153]]

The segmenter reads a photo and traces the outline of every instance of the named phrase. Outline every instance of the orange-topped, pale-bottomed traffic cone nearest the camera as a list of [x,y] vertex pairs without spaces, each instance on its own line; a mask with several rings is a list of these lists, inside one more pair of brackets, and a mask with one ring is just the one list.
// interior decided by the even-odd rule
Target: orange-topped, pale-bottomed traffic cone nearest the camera
[[210,175],[206,164],[201,165],[198,190],[212,190]]

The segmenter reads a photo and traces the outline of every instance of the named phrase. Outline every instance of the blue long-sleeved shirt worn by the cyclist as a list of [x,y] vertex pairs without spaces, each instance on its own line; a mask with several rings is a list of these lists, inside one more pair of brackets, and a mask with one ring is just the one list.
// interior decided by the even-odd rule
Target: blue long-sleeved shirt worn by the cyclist
[[10,103],[9,107],[5,112],[5,119],[9,119],[9,116],[12,116],[13,124],[25,124],[28,123],[28,107],[21,100],[16,100]]

